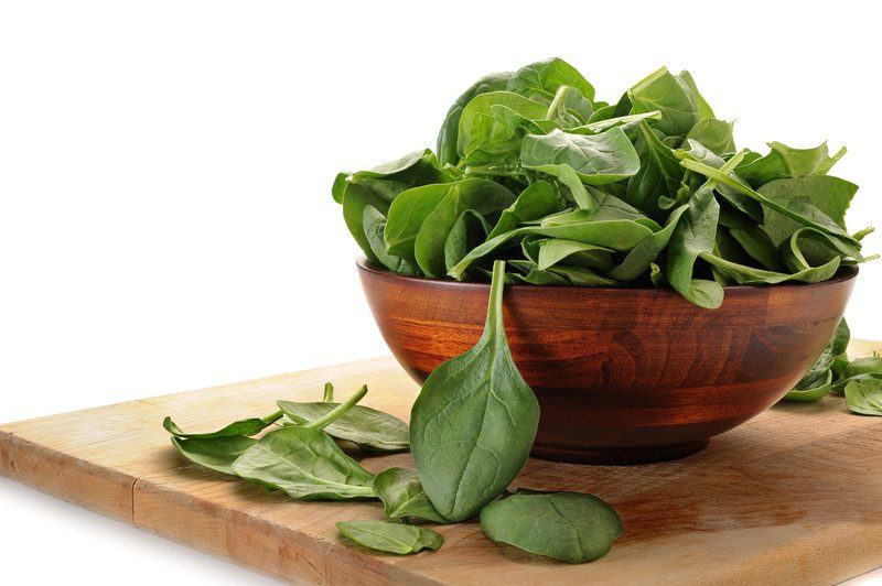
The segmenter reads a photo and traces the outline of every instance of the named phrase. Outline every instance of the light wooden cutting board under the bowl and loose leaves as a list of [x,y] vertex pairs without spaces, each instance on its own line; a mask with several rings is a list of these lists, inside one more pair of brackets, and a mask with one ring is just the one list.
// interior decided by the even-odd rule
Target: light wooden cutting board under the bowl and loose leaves
[[[882,349],[853,343],[852,356]],[[418,391],[391,358],[157,397],[0,426],[0,473],[201,551],[308,583],[832,584],[882,566],[882,417],[840,398],[783,404],[680,460],[580,466],[530,459],[516,486],[580,490],[621,513],[606,557],[569,565],[443,525],[438,552],[378,555],[336,521],[381,519],[372,502],[298,502],[183,460],[160,423],[211,430],[268,414],[276,399],[345,397],[406,419]],[[412,467],[409,454],[365,467]]]

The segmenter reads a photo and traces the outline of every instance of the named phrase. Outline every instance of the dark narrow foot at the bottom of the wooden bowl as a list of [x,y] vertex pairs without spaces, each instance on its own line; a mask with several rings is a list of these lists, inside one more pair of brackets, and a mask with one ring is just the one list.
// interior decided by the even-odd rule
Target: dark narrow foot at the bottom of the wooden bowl
[[539,459],[576,464],[646,464],[682,458],[704,449],[709,437],[663,446],[551,447],[534,445],[530,455]]

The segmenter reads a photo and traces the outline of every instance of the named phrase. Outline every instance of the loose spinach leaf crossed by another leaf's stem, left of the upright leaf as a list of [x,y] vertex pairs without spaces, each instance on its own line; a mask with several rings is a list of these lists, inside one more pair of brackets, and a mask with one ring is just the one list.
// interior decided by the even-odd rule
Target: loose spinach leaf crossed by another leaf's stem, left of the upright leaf
[[[279,409],[292,422],[302,425],[326,416],[338,403],[297,403],[279,401]],[[407,423],[394,415],[364,405],[354,405],[324,427],[327,435],[352,442],[366,454],[404,452],[410,443]]]

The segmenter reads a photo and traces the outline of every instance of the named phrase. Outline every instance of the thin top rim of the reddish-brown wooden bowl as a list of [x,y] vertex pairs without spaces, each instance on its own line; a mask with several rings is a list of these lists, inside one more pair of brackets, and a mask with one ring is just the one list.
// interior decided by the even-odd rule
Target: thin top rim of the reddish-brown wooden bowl
[[[413,282],[422,282],[422,283],[433,283],[443,286],[455,286],[462,289],[469,287],[490,287],[490,283],[484,283],[480,281],[456,281],[454,279],[434,279],[431,276],[410,276],[406,274],[400,274],[390,271],[386,268],[379,268],[370,264],[367,260],[367,257],[359,257],[355,264],[358,267],[359,270],[381,275],[384,279],[394,279],[394,280],[404,280],[404,281],[413,281]],[[858,276],[860,272],[857,265],[847,265],[847,267],[839,267],[839,270],[836,271],[836,274],[831,279],[827,279],[826,281],[818,281],[817,283],[800,283],[798,281],[789,281],[785,283],[777,283],[773,285],[729,285],[724,286],[724,291],[765,291],[770,289],[781,290],[781,289],[793,289],[793,287],[806,287],[806,286],[816,286],[816,285],[824,285],[824,284],[832,284],[842,281],[850,281]],[[505,285],[505,289],[518,289],[518,290],[562,290],[562,291],[572,291],[572,290],[588,290],[588,291],[607,291],[607,292],[657,292],[662,294],[671,294],[680,296],[675,290],[670,287],[655,287],[655,286],[579,286],[579,285],[530,285],[530,284],[517,284],[517,285]]]

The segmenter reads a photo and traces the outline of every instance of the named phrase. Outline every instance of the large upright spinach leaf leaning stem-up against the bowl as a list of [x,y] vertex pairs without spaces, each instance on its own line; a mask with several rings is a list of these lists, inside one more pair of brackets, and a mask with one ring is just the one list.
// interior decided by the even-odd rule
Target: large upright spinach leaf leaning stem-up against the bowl
[[539,423],[536,395],[512,359],[503,325],[505,262],[493,265],[478,343],[435,368],[410,413],[417,474],[448,521],[474,517],[527,460]]

